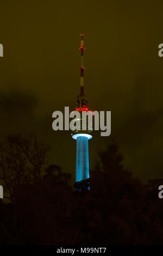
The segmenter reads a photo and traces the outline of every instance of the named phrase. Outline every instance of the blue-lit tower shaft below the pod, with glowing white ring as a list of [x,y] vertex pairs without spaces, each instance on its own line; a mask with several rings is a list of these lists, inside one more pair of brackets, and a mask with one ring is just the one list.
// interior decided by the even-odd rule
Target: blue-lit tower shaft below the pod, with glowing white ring
[[89,175],[89,139],[92,138],[87,133],[77,133],[72,136],[76,139],[76,183],[77,191],[90,190]]

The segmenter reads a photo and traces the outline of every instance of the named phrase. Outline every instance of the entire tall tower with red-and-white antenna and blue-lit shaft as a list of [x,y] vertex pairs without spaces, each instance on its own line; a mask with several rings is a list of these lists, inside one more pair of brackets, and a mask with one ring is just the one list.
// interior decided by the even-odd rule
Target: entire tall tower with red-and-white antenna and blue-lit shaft
[[[80,94],[77,96],[76,111],[80,113],[80,120],[82,121],[82,112],[87,112],[89,109],[87,107],[86,95],[84,94],[84,34],[80,34],[80,39]],[[72,134],[72,138],[76,139],[76,183],[74,186],[77,191],[90,190],[89,139],[92,138],[92,135],[90,135],[91,130],[88,129],[88,125],[86,126],[86,130],[82,130],[82,126],[80,126],[79,129]]]

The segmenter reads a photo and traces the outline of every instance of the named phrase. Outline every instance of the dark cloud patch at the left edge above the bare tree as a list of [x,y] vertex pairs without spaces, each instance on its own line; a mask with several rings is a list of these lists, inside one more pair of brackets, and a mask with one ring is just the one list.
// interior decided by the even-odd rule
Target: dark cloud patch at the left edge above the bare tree
[[34,95],[21,90],[1,92],[1,138],[9,133],[33,130],[35,123],[34,109],[37,100]]

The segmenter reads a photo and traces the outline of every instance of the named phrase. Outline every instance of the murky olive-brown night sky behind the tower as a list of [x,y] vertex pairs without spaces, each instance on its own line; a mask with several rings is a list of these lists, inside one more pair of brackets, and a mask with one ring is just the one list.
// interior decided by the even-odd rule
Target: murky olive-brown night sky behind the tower
[[162,176],[162,1],[1,1],[1,139],[35,131],[51,162],[75,173],[70,131],[52,130],[52,113],[76,107],[80,33],[85,34],[89,107],[111,111],[111,136],[90,141],[90,167],[116,142],[142,181]]

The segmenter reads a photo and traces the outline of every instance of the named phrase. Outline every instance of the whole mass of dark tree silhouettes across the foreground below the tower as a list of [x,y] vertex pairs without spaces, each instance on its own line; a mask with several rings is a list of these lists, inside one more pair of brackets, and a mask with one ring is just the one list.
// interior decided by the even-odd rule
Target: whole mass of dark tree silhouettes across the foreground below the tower
[[0,173],[11,203],[0,200],[0,244],[163,243],[162,179],[143,185],[111,144],[77,192],[70,174],[48,164],[48,149],[33,136],[12,135],[1,143]]

